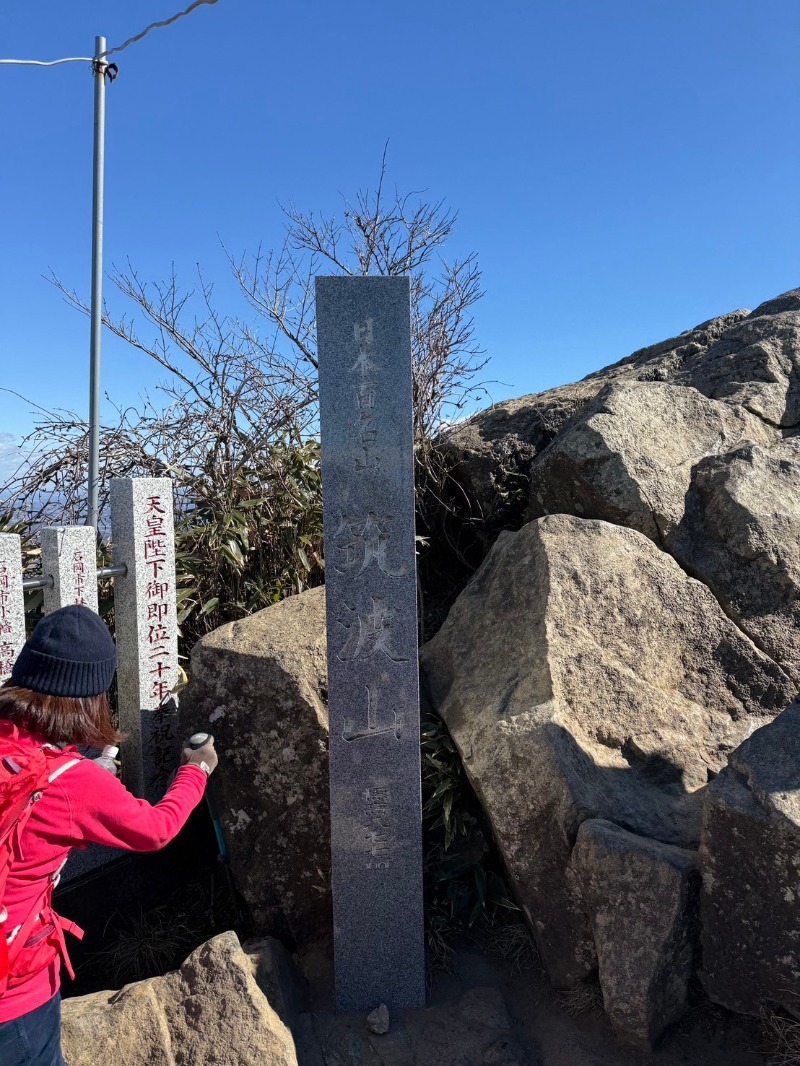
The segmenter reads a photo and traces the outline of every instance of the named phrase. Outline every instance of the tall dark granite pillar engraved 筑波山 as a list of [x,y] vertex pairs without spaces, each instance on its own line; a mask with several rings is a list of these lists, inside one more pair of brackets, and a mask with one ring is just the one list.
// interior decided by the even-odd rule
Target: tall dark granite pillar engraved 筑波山
[[318,277],[340,1011],[425,1002],[410,282]]

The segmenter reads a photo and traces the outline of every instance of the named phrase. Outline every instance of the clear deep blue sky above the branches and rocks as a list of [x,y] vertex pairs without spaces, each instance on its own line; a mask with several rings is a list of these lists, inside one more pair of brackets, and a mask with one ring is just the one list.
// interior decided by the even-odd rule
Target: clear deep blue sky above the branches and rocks
[[[3,0],[0,54],[90,55],[187,2]],[[219,0],[114,59],[107,265],[201,263],[223,310],[221,242],[335,209],[387,140],[390,180],[479,255],[494,399],[800,284],[797,0]],[[42,275],[89,293],[92,94],[82,64],[0,67],[2,384],[79,411],[89,325]],[[125,405],[158,374],[103,343]],[[31,421],[0,392],[0,452]]]

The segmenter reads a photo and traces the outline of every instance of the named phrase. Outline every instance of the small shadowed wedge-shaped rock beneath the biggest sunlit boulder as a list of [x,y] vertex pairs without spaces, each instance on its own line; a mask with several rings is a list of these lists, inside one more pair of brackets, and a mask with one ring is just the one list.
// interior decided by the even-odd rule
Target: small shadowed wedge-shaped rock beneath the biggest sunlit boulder
[[606,1014],[618,1036],[650,1050],[686,1006],[697,853],[589,819],[570,865],[597,950]]

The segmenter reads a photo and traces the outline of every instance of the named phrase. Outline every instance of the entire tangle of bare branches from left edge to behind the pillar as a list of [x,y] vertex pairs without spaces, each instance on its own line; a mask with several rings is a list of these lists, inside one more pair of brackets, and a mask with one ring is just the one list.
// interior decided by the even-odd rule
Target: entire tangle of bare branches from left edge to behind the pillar
[[[257,470],[265,456],[274,462],[276,441],[315,434],[314,278],[321,272],[410,276],[417,453],[431,469],[429,442],[480,391],[475,376],[484,365],[471,318],[481,295],[476,257],[442,257],[455,215],[443,201],[418,194],[389,196],[385,157],[375,191],[345,200],[338,216],[294,207],[285,213],[279,251],[228,254],[246,301],[243,313],[221,314],[199,271],[190,289],[181,289],[174,270],[163,282],[143,280],[130,262],[113,271],[130,311],[114,316],[106,307],[103,324],[165,376],[102,427],[101,502],[111,477],[165,473],[179,486],[194,486],[187,489],[187,506],[201,483],[204,497],[218,491],[225,499],[242,469]],[[89,313],[76,292],[51,280]],[[70,411],[38,409],[23,454],[20,469],[2,486],[6,505],[34,523],[80,521],[85,422]]]

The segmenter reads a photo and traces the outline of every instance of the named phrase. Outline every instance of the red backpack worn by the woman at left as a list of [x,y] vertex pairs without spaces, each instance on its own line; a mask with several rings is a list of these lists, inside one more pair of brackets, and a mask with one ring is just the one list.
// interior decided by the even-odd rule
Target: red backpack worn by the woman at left
[[[16,730],[13,736],[0,736],[0,904],[12,865],[22,857],[20,838],[33,805],[48,785],[78,762],[79,756],[65,760],[57,748],[20,744]],[[81,939],[83,931],[59,917],[51,906],[62,867],[50,874],[30,914],[16,928],[5,928],[9,915],[0,906],[0,996],[41,973],[58,955],[75,976],[64,933]]]

